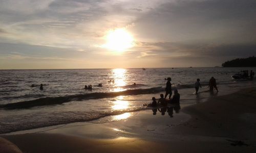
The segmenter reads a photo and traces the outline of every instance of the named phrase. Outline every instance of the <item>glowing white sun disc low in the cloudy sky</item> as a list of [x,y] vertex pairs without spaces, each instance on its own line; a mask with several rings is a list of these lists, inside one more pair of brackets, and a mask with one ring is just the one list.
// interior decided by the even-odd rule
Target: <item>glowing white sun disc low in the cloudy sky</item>
[[113,51],[123,52],[133,47],[133,36],[123,28],[111,30],[106,35],[104,47]]

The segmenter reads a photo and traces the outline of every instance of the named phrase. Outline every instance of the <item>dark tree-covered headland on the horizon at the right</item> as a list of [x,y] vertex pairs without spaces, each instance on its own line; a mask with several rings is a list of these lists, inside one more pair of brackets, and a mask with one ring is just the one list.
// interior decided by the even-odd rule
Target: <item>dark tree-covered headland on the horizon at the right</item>
[[222,64],[223,67],[255,67],[256,66],[256,57],[248,57],[245,59],[234,59],[227,61]]

